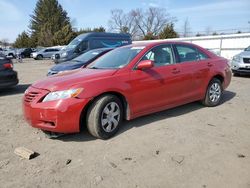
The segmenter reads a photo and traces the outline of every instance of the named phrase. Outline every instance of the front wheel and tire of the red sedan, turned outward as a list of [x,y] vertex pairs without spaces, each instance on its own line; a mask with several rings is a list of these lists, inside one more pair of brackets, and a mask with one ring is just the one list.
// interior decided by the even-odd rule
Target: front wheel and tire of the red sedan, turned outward
[[115,135],[123,120],[121,101],[114,95],[97,98],[87,112],[87,128],[91,135],[108,139]]

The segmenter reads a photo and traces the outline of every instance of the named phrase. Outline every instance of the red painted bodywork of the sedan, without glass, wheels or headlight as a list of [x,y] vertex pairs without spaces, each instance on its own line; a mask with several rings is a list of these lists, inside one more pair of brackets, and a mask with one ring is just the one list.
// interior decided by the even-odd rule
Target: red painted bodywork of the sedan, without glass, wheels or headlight
[[[144,44],[146,47],[124,68],[80,69],[34,83],[23,98],[26,120],[33,127],[43,130],[61,133],[79,132],[81,113],[92,99],[103,93],[116,92],[123,95],[130,108],[127,119],[133,119],[203,99],[209,81],[214,76],[223,77],[224,89],[229,85],[231,71],[228,61],[193,44],[189,45],[198,48],[209,59],[161,67],[155,67],[147,60],[140,63],[142,70],[136,69],[141,57],[152,47],[160,44],[185,43]],[[51,91],[71,88],[84,88],[84,91],[77,98],[41,102]]]

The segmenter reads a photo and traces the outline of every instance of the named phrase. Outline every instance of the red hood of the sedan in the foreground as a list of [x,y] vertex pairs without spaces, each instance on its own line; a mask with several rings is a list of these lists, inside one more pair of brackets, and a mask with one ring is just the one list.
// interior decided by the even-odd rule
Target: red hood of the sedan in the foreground
[[32,87],[49,91],[67,90],[77,85],[82,86],[85,82],[112,76],[116,72],[114,69],[77,69],[39,80]]

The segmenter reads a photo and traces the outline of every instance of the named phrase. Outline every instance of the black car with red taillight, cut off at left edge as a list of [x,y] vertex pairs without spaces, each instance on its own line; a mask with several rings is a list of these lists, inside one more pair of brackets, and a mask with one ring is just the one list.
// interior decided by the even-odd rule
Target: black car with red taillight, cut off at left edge
[[13,63],[5,55],[0,54],[0,89],[18,84],[17,72],[13,70]]

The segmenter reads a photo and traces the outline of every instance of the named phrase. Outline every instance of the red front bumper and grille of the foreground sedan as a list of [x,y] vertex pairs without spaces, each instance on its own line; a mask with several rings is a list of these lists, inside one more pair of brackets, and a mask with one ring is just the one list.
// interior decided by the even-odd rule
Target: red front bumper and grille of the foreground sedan
[[69,98],[42,102],[47,90],[30,87],[23,96],[26,121],[35,128],[55,133],[80,131],[81,113],[90,99]]

